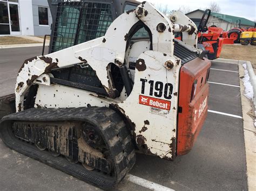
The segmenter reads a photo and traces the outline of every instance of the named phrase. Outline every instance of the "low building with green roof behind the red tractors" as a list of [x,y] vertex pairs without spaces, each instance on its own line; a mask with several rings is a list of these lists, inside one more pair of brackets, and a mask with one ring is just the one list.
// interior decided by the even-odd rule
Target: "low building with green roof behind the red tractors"
[[[187,17],[193,20],[198,20],[198,22],[203,17],[204,10],[194,10],[186,14]],[[215,25],[221,27],[223,30],[228,31],[234,27],[239,27],[241,22],[241,27],[254,27],[254,22],[242,17],[235,17],[231,15],[224,15],[221,13],[211,12],[211,16],[208,20],[207,26]],[[198,23],[199,24],[199,23]]]

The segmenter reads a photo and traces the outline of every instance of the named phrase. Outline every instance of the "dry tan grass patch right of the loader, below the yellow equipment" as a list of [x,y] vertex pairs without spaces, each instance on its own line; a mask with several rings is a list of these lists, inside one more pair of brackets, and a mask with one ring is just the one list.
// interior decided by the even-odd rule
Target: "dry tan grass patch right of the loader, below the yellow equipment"
[[256,72],[256,46],[223,45],[220,58],[251,61]]

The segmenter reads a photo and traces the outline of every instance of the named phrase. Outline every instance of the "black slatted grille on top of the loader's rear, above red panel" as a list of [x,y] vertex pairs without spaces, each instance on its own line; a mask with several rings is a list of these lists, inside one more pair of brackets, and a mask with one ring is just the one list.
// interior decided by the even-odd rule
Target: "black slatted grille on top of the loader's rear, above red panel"
[[177,40],[174,41],[174,55],[181,59],[181,65],[198,57],[196,52],[190,51]]

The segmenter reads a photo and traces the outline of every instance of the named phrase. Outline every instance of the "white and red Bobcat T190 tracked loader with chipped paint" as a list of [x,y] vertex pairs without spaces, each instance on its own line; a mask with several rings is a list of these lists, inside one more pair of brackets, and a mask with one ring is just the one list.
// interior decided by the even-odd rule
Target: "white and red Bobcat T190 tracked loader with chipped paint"
[[8,147],[103,189],[135,151],[174,160],[191,150],[211,65],[183,13],[171,21],[148,2],[114,2],[56,1],[50,53],[25,60],[15,96],[0,101]]

